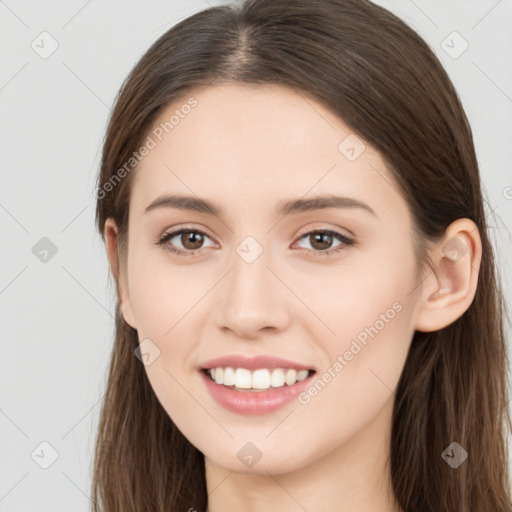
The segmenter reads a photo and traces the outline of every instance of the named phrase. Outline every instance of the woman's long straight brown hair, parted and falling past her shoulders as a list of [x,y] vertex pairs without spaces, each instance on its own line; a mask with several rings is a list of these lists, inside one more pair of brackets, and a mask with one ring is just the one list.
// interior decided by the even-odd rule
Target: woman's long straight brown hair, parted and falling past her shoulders
[[[471,306],[444,329],[414,334],[396,390],[390,470],[406,512],[510,512],[505,303],[472,132],[434,53],[386,9],[368,0],[248,0],[172,27],[116,99],[96,192],[101,236],[112,217],[123,261],[136,168],[119,170],[163,107],[226,81],[284,84],[309,94],[372,144],[409,204],[418,247],[439,240],[458,218],[478,226],[483,256]],[[134,357],[138,344],[118,304],[96,441],[94,510],[203,511],[204,457],[158,402]],[[469,454],[457,469],[441,456],[453,441]]]

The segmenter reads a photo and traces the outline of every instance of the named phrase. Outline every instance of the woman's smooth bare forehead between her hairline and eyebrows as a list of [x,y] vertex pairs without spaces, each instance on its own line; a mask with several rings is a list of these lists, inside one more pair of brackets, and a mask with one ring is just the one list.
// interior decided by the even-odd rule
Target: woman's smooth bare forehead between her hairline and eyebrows
[[238,209],[327,192],[398,195],[379,175],[387,171],[372,147],[312,97],[284,86],[193,90],[165,107],[148,133],[154,147],[132,184],[139,213],[162,193],[238,201]]

